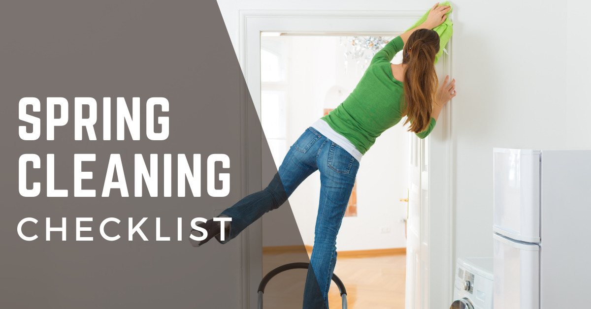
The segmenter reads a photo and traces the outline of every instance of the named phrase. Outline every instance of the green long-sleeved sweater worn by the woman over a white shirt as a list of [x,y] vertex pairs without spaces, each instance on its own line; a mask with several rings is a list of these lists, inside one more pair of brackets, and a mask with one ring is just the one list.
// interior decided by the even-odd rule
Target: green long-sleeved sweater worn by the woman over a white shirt
[[[345,136],[355,148],[365,154],[382,132],[402,118],[404,90],[402,82],[392,75],[390,61],[402,50],[402,38],[396,37],[378,51],[353,92],[322,119],[338,134]],[[431,117],[428,128],[417,133],[425,138],[434,128]]]

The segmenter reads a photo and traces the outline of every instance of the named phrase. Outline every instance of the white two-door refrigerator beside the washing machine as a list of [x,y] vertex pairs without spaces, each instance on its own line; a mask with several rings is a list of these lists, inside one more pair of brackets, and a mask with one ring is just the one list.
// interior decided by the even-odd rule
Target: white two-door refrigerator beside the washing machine
[[591,150],[493,149],[495,309],[591,308]]

